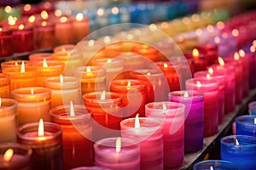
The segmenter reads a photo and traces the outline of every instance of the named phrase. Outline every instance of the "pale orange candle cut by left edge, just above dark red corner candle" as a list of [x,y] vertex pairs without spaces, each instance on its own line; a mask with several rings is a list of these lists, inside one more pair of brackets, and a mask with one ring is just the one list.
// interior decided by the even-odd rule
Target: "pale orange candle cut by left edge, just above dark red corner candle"
[[17,105],[14,99],[0,98],[0,143],[16,142]]

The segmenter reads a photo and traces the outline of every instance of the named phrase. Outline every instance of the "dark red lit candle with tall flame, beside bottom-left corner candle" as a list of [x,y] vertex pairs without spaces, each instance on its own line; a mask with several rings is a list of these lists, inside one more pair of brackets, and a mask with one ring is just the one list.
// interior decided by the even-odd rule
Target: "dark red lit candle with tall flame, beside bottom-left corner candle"
[[32,148],[32,169],[62,169],[61,135],[61,126],[42,119],[19,127],[18,143]]

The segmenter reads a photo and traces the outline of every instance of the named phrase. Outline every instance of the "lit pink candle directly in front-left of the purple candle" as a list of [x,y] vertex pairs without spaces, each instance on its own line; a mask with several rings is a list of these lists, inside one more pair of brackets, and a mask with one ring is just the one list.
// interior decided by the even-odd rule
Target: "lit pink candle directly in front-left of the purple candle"
[[145,106],[146,116],[163,122],[164,167],[183,166],[185,105],[172,102],[154,102]]

